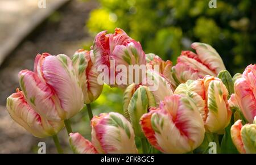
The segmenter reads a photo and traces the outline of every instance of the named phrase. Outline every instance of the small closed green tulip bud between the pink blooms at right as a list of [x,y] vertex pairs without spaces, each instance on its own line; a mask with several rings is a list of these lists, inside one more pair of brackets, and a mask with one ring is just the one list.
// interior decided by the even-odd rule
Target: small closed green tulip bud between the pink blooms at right
[[227,90],[229,91],[229,98],[230,95],[234,94],[234,82],[232,80],[232,76],[228,70],[221,70],[217,77],[225,84]]

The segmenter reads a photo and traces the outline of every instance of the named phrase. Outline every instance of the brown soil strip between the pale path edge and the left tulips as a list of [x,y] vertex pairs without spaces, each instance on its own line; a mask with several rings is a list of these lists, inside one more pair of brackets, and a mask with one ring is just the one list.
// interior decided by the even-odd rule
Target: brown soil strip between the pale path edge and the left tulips
[[[64,53],[72,56],[84,43],[93,40],[86,32],[85,20],[89,16],[89,11],[95,7],[97,4],[93,1],[71,1],[36,29],[1,65],[0,153],[35,153],[40,141],[47,143],[47,153],[56,152],[51,138],[34,138],[13,122],[5,109],[6,98],[19,87],[19,71],[32,69],[37,53]],[[68,137],[64,130],[60,137],[61,143],[67,146]]]

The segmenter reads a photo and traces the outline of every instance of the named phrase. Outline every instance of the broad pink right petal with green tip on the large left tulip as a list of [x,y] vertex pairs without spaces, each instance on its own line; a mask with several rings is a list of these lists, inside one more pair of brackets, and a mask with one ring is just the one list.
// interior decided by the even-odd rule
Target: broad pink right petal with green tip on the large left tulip
[[60,101],[58,108],[64,111],[61,119],[76,115],[84,105],[84,98],[69,57],[64,54],[48,56],[44,60],[42,70],[46,83],[51,86]]

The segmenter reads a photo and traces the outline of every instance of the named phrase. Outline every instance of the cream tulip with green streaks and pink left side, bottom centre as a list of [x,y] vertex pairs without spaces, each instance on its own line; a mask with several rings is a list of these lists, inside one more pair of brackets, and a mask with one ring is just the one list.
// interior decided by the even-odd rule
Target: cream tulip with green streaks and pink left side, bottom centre
[[138,153],[133,128],[121,114],[101,113],[93,117],[91,126],[92,144],[98,153]]

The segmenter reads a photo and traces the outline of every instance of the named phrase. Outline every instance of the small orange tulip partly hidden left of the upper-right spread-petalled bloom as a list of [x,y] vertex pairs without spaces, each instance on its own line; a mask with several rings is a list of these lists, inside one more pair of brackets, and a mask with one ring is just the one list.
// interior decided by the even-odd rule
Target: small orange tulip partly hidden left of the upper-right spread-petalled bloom
[[172,87],[176,88],[176,84],[174,79],[172,78],[172,62],[170,60],[163,61],[162,58],[156,56],[153,53],[146,54],[146,61],[147,61],[147,69],[155,69],[155,66],[158,66],[158,71],[163,77],[167,78]]

